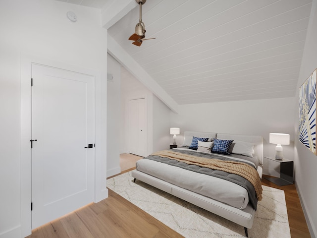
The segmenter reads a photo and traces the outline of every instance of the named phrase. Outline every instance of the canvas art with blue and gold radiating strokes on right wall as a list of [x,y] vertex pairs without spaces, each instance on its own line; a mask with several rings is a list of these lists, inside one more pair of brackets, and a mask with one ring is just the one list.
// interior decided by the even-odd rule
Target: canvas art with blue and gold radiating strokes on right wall
[[298,139],[316,153],[316,76],[317,69],[299,89]]

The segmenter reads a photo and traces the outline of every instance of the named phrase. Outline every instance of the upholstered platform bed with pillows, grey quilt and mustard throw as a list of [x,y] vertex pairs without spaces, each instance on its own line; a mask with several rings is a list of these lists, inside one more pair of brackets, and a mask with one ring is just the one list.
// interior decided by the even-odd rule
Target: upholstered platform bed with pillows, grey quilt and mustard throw
[[[206,161],[211,165],[202,166]],[[230,168],[215,169],[217,163]],[[242,175],[241,166],[255,179]],[[243,226],[248,237],[261,199],[262,173],[262,136],[185,131],[182,146],[139,160],[132,177]]]

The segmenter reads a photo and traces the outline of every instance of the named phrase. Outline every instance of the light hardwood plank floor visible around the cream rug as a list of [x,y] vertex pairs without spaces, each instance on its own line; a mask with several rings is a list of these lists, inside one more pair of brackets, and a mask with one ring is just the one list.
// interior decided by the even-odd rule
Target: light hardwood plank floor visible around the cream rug
[[[121,172],[135,167],[142,158],[120,155]],[[128,164],[128,165],[127,165]],[[121,169],[122,170],[122,169]],[[304,213],[295,185],[277,186],[262,179],[262,184],[285,191],[288,219],[292,238],[310,238]],[[60,219],[32,231],[27,238],[181,238],[182,236],[143,210],[109,190],[108,198],[87,205]]]

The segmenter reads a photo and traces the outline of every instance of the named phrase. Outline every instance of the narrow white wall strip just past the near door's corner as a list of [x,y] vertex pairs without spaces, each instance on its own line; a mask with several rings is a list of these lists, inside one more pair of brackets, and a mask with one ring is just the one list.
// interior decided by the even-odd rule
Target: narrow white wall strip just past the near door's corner
[[108,54],[107,70],[112,80],[107,81],[107,176],[119,174],[121,116],[121,65]]

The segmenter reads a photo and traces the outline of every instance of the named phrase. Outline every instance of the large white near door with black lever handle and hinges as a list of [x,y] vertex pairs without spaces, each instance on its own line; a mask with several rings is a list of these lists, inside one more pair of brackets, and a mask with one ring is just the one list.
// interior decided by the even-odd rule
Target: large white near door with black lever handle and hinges
[[32,79],[35,229],[94,201],[95,79],[37,64]]

